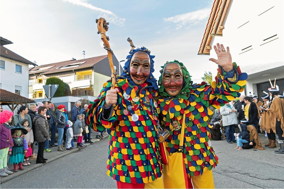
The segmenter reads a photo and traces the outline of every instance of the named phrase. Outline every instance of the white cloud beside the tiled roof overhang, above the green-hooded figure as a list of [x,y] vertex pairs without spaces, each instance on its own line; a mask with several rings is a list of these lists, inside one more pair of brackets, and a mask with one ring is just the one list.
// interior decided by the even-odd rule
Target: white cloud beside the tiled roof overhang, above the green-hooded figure
[[200,9],[193,12],[187,12],[184,14],[178,14],[176,16],[163,18],[164,22],[172,22],[174,24],[177,24],[177,28],[179,29],[186,25],[196,25],[202,22],[205,19],[209,18],[211,9]]

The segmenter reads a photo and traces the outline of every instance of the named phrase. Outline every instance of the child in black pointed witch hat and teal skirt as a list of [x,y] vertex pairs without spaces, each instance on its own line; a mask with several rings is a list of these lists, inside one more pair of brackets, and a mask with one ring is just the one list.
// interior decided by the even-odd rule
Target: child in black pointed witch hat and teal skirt
[[14,146],[11,146],[9,149],[9,163],[14,165],[14,172],[18,171],[18,164],[19,169],[24,170],[23,168],[23,161],[25,157],[25,153],[29,149],[27,141],[24,137],[28,131],[20,126],[18,123],[16,127],[11,128],[12,140]]

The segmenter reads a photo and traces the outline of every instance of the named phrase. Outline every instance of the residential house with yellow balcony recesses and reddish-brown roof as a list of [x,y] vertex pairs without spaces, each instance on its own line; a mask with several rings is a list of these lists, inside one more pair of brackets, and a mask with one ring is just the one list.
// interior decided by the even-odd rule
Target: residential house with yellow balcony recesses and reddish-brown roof
[[[119,62],[114,55],[112,55],[112,60],[114,69],[118,69]],[[45,98],[43,85],[49,77],[58,77],[66,82],[70,86],[72,95],[98,96],[103,84],[110,79],[110,75],[107,55],[37,66],[29,71],[29,97]]]

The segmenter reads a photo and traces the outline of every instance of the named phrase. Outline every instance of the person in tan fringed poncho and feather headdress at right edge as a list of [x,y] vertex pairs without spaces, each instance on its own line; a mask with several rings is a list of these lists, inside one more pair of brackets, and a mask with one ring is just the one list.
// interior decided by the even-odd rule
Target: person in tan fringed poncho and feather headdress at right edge
[[264,110],[266,110],[270,116],[271,128],[273,132],[276,132],[278,135],[278,143],[280,145],[280,149],[274,152],[284,154],[284,101],[278,96],[279,87],[277,85],[275,88],[271,87],[268,90],[270,91],[270,95],[272,95],[272,103],[270,109],[266,108]]

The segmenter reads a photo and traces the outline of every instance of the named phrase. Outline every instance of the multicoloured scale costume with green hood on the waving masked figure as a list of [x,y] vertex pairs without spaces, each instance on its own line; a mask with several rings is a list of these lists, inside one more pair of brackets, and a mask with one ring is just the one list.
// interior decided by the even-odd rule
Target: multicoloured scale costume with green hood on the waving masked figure
[[[162,125],[170,131],[170,136],[164,143],[168,152],[177,151],[181,130],[175,131],[172,123],[178,121],[181,125],[183,114],[186,113],[183,157],[187,173],[190,176],[198,176],[218,164],[218,157],[212,148],[209,133],[211,126],[208,117],[213,112],[208,107],[211,105],[219,109],[228,101],[239,97],[239,92],[245,88],[247,74],[241,73],[237,64],[233,63],[234,72],[231,73],[233,77],[228,78],[228,73],[222,73],[222,68],[219,67],[218,75],[211,85],[207,85],[205,82],[193,84],[183,63],[176,60],[173,62],[180,65],[184,84],[179,94],[176,97],[171,97],[164,89],[162,75],[159,78],[161,85],[158,102],[161,112],[160,120]],[[164,66],[162,66],[161,73],[163,73]]]

